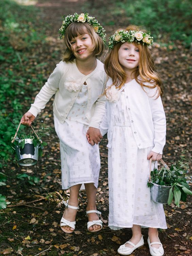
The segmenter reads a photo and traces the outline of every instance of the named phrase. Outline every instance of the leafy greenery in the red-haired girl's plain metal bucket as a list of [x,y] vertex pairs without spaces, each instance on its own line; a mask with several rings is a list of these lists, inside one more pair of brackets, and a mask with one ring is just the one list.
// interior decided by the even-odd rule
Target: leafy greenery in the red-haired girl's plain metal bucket
[[[174,201],[179,206],[179,201],[186,202],[187,194],[192,195],[187,174],[189,173],[189,164],[184,155],[171,165],[170,170],[163,166],[160,170],[156,168],[151,172],[151,182],[161,186],[172,186],[169,191],[169,198],[167,203],[170,205]],[[153,183],[148,181],[147,186],[154,186]]]

